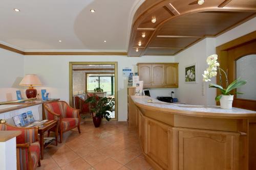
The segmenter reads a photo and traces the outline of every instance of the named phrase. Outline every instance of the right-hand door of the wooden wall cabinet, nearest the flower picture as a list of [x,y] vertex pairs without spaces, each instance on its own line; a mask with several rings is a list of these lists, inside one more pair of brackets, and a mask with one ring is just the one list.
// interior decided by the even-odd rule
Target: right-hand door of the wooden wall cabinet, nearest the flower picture
[[178,64],[164,65],[165,85],[178,87]]

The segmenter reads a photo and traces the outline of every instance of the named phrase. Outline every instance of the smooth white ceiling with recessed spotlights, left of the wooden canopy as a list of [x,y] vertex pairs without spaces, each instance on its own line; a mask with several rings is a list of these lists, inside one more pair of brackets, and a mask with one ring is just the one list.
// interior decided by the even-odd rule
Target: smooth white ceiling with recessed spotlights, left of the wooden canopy
[[0,0],[0,43],[28,52],[126,52],[132,16],[144,1]]

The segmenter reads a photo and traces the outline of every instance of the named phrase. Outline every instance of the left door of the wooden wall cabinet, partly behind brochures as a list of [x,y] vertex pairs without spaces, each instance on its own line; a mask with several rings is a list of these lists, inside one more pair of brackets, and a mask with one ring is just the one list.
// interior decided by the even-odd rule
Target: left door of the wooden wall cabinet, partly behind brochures
[[143,86],[152,85],[152,64],[139,64],[138,65],[139,78],[143,81]]

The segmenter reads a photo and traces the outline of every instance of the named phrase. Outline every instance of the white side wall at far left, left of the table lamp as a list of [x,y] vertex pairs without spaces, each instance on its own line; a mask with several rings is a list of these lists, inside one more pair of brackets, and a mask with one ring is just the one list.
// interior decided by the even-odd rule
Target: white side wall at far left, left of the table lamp
[[17,100],[16,90],[24,88],[18,85],[24,76],[23,70],[23,55],[0,48],[0,102]]

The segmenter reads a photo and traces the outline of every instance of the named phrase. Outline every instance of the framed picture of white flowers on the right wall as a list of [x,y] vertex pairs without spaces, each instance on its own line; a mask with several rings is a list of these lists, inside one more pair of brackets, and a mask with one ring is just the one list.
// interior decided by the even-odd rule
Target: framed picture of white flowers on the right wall
[[185,66],[185,83],[197,83],[197,64]]

